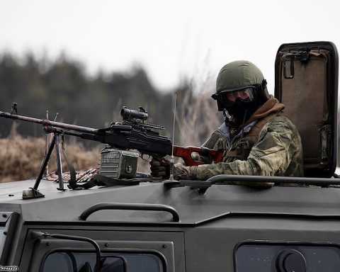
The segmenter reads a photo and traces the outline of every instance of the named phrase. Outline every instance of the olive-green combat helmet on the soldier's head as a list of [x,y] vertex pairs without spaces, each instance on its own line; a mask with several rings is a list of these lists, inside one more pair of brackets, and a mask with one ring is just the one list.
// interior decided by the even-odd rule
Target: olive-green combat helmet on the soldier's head
[[269,99],[266,84],[266,79],[255,64],[245,60],[230,62],[220,70],[216,79],[216,93],[212,98],[217,100],[218,111],[224,111],[226,106],[220,99],[223,93],[251,87],[256,89],[259,102],[264,103]]

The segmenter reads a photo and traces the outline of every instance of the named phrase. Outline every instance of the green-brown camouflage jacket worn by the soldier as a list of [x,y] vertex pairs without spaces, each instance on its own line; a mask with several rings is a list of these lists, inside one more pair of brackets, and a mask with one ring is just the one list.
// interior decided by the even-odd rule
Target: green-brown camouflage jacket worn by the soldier
[[[275,98],[271,98],[272,103],[284,106]],[[273,101],[274,99],[274,101]],[[277,108],[277,107],[276,107]],[[275,113],[275,111],[266,111],[268,113],[262,118],[244,127],[245,136],[251,133],[252,126],[256,126],[261,119]],[[249,128],[250,127],[250,128]],[[263,125],[256,139],[252,139],[247,154],[243,152],[243,158],[237,157],[235,149],[240,142],[244,141],[244,137],[230,137],[228,128],[223,125],[212,133],[208,141],[203,146],[210,149],[224,149],[227,154],[223,162],[217,164],[203,164],[200,166],[178,166],[180,171],[187,174],[187,178],[195,178],[197,180],[206,180],[218,174],[230,175],[254,175],[254,176],[303,176],[302,165],[302,145],[300,134],[295,125],[285,116],[276,115],[268,123]],[[248,141],[249,142],[249,141]],[[230,156],[232,154],[232,156]],[[206,161],[208,162],[208,161]],[[208,162],[209,163],[209,162]],[[186,179],[186,175],[181,176]],[[235,182],[237,183],[237,182]],[[237,183],[239,184],[239,183]],[[251,185],[242,183],[244,185]],[[253,184],[254,185],[254,184]],[[271,186],[272,184],[262,184]]]

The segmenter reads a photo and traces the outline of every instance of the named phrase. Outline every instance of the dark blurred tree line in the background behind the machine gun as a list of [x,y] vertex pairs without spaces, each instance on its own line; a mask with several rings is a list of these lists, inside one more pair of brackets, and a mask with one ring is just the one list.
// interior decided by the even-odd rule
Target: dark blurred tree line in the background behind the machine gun
[[[16,102],[19,115],[35,118],[45,118],[49,111],[50,120],[59,113],[57,121],[103,128],[111,122],[120,122],[123,106],[131,109],[142,106],[149,113],[147,123],[164,125],[166,132],[162,134],[169,136],[174,91],[158,91],[142,67],[126,73],[98,72],[89,77],[83,64],[64,55],[53,62],[38,60],[30,53],[23,60],[9,53],[0,59],[0,111],[11,111],[11,103]],[[193,99],[188,86],[176,91]],[[8,136],[12,123],[1,118],[0,137]],[[21,135],[44,134],[41,126],[33,123],[20,122],[17,130]]]

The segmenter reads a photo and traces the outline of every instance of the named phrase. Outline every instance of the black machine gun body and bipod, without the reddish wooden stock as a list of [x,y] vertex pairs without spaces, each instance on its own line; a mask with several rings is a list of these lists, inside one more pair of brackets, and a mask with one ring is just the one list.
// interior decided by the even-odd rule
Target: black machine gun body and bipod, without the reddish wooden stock
[[[130,110],[126,107],[123,107],[120,111],[123,122],[111,123],[110,127],[100,129],[86,128],[79,125],[71,125],[46,119],[30,118],[18,115],[17,113],[17,105],[16,103],[12,103],[11,113],[4,113],[0,111],[0,117],[13,120],[23,120],[30,123],[38,123],[42,125],[46,133],[53,133],[52,141],[47,149],[45,159],[42,162],[42,166],[40,168],[40,173],[35,181],[35,185],[33,186],[33,192],[31,192],[33,193],[33,197],[39,197],[40,193],[38,192],[38,186],[54,147],[56,147],[57,152],[57,172],[59,179],[58,190],[65,190],[64,183],[62,181],[62,163],[60,156],[60,145],[62,140],[64,139],[64,135],[81,137],[85,140],[92,140],[108,145],[109,148],[104,148],[102,151],[101,163],[103,162],[103,164],[108,164],[103,165],[103,168],[111,167],[112,171],[113,164],[116,165],[118,161],[119,163],[123,162],[125,163],[123,165],[123,171],[125,171],[125,174],[130,175],[130,177],[135,174],[135,171],[137,169],[137,158],[139,156],[138,154],[136,156],[132,154],[132,152],[128,152],[126,150],[137,149],[142,155],[147,154],[156,159],[165,157],[166,155],[170,155],[172,152],[172,143],[169,137],[159,135],[159,132],[155,131],[164,130],[164,127],[145,123],[148,115],[142,107],[140,107],[138,111]],[[128,161],[130,158],[128,164],[126,163],[127,158]],[[131,158],[133,162],[131,162]],[[67,164],[69,164],[66,156],[65,159],[67,160]],[[123,166],[119,164],[120,168]],[[117,168],[117,166],[115,167]],[[70,168],[73,168],[73,166],[71,166]],[[114,171],[115,170],[117,169],[114,169]],[[70,169],[70,172],[71,174],[72,172],[74,172],[75,176],[74,169]],[[120,174],[120,171],[118,174]],[[119,178],[120,176],[116,177]]]

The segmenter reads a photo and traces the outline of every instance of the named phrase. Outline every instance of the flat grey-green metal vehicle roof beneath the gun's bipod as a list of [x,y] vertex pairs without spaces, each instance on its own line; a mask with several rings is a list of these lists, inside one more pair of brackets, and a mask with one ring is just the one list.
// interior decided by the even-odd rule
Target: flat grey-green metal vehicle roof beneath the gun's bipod
[[24,222],[80,222],[81,212],[97,203],[150,203],[170,205],[179,212],[180,222],[171,222],[169,212],[94,212],[87,221],[157,222],[197,225],[233,214],[339,217],[338,188],[315,186],[274,186],[268,189],[235,185],[215,185],[205,194],[190,187],[166,188],[162,182],[137,186],[57,191],[57,183],[42,181],[39,190],[45,198],[23,200],[30,181],[1,183],[0,211],[18,212]]

